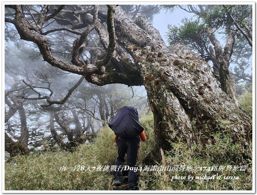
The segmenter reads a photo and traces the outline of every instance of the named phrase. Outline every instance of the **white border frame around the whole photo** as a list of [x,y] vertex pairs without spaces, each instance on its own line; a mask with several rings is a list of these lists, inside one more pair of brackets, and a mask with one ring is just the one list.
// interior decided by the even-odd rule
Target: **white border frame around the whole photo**
[[253,70],[253,164],[252,164],[252,170],[253,170],[253,180],[252,180],[252,184],[253,184],[253,189],[252,190],[210,190],[210,191],[206,191],[206,190],[181,190],[181,191],[177,191],[177,190],[152,190],[152,191],[148,191],[148,190],[142,190],[142,191],[133,191],[130,193],[255,193],[255,2],[194,2],[194,1],[187,1],[187,2],[156,2],[153,0],[149,0],[149,1],[141,1],[141,2],[136,2],[136,1],[112,1],[112,2],[105,2],[105,1],[98,1],[98,2],[83,2],[83,1],[78,1],[78,2],[65,2],[65,1],[56,1],[56,2],[51,2],[51,1],[44,1],[44,2],[37,2],[37,1],[33,1],[33,2],[22,2],[22,1],[16,1],[16,2],[2,2],[2,193],[128,193],[127,191],[123,191],[123,190],[117,190],[117,191],[111,191],[111,190],[5,190],[4,189],[4,59],[5,59],[5,54],[4,54],[4,5],[7,4],[13,4],[13,5],[19,5],[19,4],[44,4],[46,2],[50,2],[51,5],[54,4],[60,4],[60,2],[65,3],[65,4],[70,4],[70,5],[75,5],[75,4],[81,4],[81,3],[86,3],[86,4],[98,4],[98,5],[102,5],[102,4],[120,4],[120,5],[124,5],[124,4],[180,4],[180,5],[185,5],[185,4],[212,4],[212,5],[220,5],[220,4],[226,4],[226,5],[252,5],[253,6],[253,65],[252,65],[252,70]]

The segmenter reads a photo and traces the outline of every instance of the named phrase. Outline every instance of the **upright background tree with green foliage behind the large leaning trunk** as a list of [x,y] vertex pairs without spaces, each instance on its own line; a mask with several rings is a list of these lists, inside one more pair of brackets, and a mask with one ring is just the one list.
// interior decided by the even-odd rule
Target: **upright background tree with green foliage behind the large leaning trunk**
[[[177,28],[176,26],[168,26],[169,42],[173,43],[176,40],[180,40],[180,42],[182,42],[183,44],[186,44],[191,49],[197,51],[198,54],[200,54],[200,56],[203,57],[207,62],[211,61],[213,63],[213,71],[217,75],[218,80],[220,81],[221,88],[224,90],[224,92],[229,94],[229,96],[233,99],[234,103],[237,105],[234,85],[235,78],[231,73],[229,73],[229,65],[231,62],[233,62],[231,56],[233,54],[234,45],[236,44],[236,40],[241,37],[241,34],[234,25],[234,22],[226,21],[227,12],[224,12],[224,7],[226,6],[163,6],[164,9],[170,11],[173,11],[176,7],[179,7],[180,9],[183,9],[190,13],[195,13],[198,16],[198,19],[195,21],[193,21],[192,19],[191,21],[184,19],[182,21],[183,25],[181,25],[180,28]],[[224,34],[224,37],[226,38],[226,45],[224,46],[224,48],[221,47],[220,41],[218,41],[215,35],[215,31],[217,31],[220,28],[225,29],[221,32]],[[176,33],[178,31],[179,33]],[[214,48],[213,46],[209,45],[210,42],[214,46]],[[242,41],[240,41],[240,45],[242,45]],[[247,47],[247,45],[245,46]],[[235,61],[237,62],[237,67],[241,70],[246,70],[249,67],[248,64],[246,64],[245,62],[242,61],[241,63],[240,60],[238,60],[239,58],[242,58],[240,54],[237,53],[237,56],[235,58],[237,58],[237,60]],[[243,74],[238,74],[240,73],[237,71],[238,68],[235,68],[236,74],[234,75],[238,76],[236,80],[238,81],[245,78],[245,80],[250,81],[245,77],[243,71],[241,71],[241,73]]]

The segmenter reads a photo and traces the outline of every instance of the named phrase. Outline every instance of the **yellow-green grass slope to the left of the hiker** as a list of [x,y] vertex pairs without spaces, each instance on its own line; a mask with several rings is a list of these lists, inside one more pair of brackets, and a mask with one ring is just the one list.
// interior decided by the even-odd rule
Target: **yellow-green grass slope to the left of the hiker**
[[[113,174],[103,171],[73,171],[77,165],[114,165],[117,147],[109,127],[99,132],[94,143],[80,145],[73,153],[46,152],[17,156],[5,163],[5,190],[110,190]],[[65,171],[59,171],[66,166]]]

